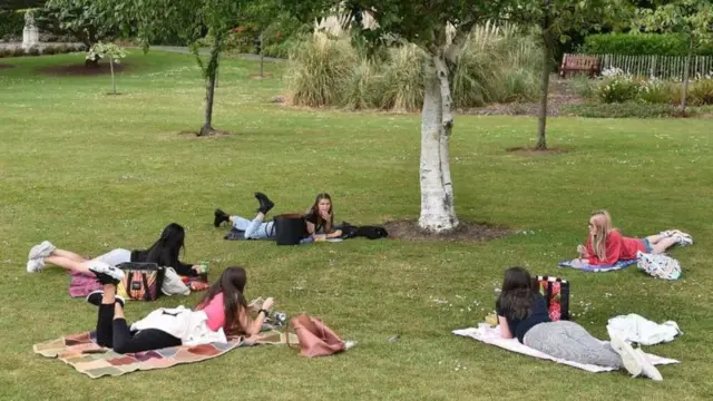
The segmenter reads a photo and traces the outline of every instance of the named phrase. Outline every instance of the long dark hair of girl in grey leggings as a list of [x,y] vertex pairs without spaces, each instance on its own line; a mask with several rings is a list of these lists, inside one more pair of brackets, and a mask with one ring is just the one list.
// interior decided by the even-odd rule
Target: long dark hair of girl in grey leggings
[[522,320],[533,314],[533,301],[537,287],[530,273],[522,267],[510,267],[505,271],[502,287],[498,302],[505,317]]

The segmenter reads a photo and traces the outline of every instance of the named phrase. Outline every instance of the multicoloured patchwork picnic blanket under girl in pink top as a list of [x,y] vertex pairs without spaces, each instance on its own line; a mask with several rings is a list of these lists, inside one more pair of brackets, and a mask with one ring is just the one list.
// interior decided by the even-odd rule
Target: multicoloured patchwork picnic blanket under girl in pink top
[[[290,333],[290,342],[297,343],[294,334]],[[124,373],[170,368],[180,363],[194,363],[213,359],[227,353],[238,346],[260,344],[285,344],[284,331],[267,330],[252,336],[228,338],[227,343],[211,343],[197,346],[172,346],[162,350],[119,354],[110,349],[97,344],[95,332],[64,335],[57,340],[36,344],[35,353],[58,360],[74,366],[78,372],[91,379],[105,375],[121,375]]]

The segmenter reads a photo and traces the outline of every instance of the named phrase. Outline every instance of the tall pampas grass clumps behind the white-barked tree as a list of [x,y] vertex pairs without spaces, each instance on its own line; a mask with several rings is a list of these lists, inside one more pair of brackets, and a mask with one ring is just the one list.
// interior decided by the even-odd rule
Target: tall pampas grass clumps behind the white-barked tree
[[[306,37],[290,55],[286,77],[296,105],[393,111],[422,107],[426,55],[414,45],[369,53],[359,40],[320,32]],[[453,105],[534,100],[541,65],[541,49],[533,36],[512,27],[477,27],[452,71]]]

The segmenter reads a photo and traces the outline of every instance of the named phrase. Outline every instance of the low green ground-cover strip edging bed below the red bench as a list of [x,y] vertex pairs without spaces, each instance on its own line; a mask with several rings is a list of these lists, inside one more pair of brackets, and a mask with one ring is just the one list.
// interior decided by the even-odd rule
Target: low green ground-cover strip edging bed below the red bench
[[625,104],[574,104],[563,107],[563,114],[588,118],[661,118],[677,116],[672,105]]

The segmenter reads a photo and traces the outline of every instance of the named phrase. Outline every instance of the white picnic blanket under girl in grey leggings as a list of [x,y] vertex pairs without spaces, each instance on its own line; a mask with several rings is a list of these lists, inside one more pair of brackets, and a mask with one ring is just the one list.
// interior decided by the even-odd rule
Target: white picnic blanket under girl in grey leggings
[[[506,349],[508,351],[512,351],[512,352],[517,352],[517,353],[521,353],[521,354],[525,354],[525,355],[530,355],[530,356],[535,356],[535,358],[539,358],[539,359],[544,359],[544,360],[550,360],[550,361],[555,361],[557,363],[561,363],[561,364],[566,364],[566,365],[569,365],[569,366],[583,369],[583,370],[586,370],[587,372],[592,372],[592,373],[609,372],[609,371],[615,370],[615,368],[607,368],[607,366],[598,366],[598,365],[594,365],[594,364],[577,363],[577,362],[567,361],[567,360],[563,360],[563,359],[550,356],[550,355],[548,355],[546,353],[539,352],[539,351],[534,350],[534,349],[531,349],[531,348],[529,348],[529,346],[527,346],[525,344],[521,344],[519,341],[517,341],[517,339],[504,339],[504,338],[501,338],[500,336],[500,329],[498,326],[490,327],[487,323],[480,323],[480,324],[478,324],[478,327],[469,327],[469,329],[463,329],[463,330],[453,330],[452,333],[456,334],[456,335],[471,338],[471,339],[481,341],[481,342],[484,342],[486,344],[497,345],[497,346]],[[648,360],[651,361],[651,363],[653,363],[655,365],[680,363],[676,360],[662,358],[662,356],[656,356],[656,355],[653,355],[653,354],[649,354],[649,353],[647,353],[646,355],[648,356]]]

